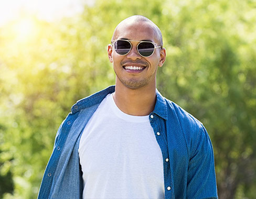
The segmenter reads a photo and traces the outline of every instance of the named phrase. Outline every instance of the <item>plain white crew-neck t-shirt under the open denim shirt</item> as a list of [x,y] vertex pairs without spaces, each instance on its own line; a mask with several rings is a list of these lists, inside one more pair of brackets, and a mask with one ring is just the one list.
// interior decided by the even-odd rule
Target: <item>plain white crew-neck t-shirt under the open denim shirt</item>
[[164,198],[161,149],[148,116],[123,113],[107,95],[79,144],[83,199]]

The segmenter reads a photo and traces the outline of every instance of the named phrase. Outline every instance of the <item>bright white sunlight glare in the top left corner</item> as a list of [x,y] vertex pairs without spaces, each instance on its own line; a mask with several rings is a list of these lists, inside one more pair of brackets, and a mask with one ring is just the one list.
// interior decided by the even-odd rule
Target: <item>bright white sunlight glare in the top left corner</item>
[[21,14],[53,21],[70,17],[83,11],[83,6],[93,6],[95,0],[0,0],[0,27],[18,19]]

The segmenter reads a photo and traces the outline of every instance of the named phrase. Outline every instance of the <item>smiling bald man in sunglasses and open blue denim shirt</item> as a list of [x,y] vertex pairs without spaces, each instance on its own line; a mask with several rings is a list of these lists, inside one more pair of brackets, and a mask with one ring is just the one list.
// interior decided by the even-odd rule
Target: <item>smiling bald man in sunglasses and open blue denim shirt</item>
[[108,56],[115,86],[72,106],[38,198],[217,198],[206,129],[156,90],[166,58],[159,28],[126,18]]

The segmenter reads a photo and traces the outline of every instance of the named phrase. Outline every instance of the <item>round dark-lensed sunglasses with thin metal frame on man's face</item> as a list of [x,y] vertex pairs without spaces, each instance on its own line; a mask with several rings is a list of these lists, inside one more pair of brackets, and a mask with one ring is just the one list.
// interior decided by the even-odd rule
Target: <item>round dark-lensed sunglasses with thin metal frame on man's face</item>
[[[126,40],[126,39],[118,39],[112,41],[112,46],[114,46],[115,52],[120,54],[121,56],[125,56],[132,49],[132,43],[130,41],[137,40]],[[156,43],[151,41],[137,41],[137,51],[142,57],[150,57],[155,52],[156,48],[162,48],[161,46],[157,46]]]

